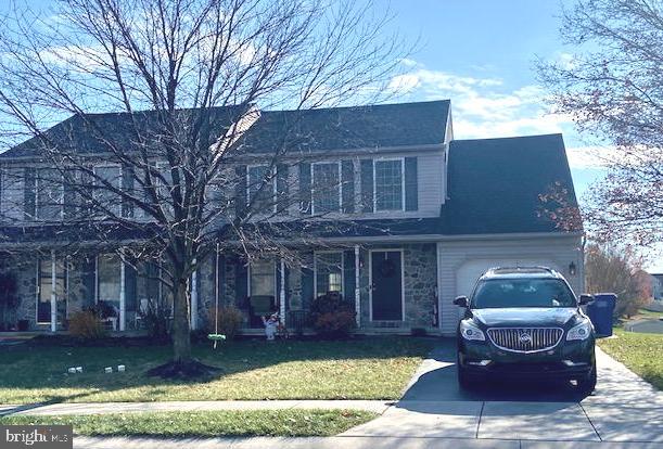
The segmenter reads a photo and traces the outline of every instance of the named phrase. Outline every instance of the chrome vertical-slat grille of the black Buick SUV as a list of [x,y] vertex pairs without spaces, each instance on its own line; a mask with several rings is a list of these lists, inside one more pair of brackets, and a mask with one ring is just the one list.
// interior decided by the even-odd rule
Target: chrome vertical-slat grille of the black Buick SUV
[[488,329],[488,338],[500,349],[538,352],[556,347],[563,333],[560,328],[496,328]]

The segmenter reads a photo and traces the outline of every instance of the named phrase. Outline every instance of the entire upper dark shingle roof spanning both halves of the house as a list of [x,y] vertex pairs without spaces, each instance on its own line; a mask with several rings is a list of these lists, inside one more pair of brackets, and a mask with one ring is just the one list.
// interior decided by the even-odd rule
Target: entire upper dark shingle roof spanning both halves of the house
[[[181,110],[183,119],[192,123],[200,110]],[[220,137],[241,115],[241,106],[214,107],[213,139]],[[262,111],[258,120],[240,139],[242,153],[288,151],[316,152],[328,150],[379,149],[444,143],[449,114],[449,100],[380,104],[354,107],[330,107],[303,111]],[[102,154],[107,138],[128,150],[136,138],[132,120],[149,131],[157,113],[105,113],[74,115],[53,126],[44,134],[59,145],[75,149],[80,154]],[[97,129],[103,130],[102,133]],[[0,158],[38,157],[41,142],[29,139],[0,154]]]

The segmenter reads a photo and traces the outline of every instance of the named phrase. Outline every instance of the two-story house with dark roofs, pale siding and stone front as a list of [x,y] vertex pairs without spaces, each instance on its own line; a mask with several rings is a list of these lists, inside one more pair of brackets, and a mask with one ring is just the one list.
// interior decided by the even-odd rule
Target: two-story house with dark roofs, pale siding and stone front
[[[260,176],[270,142],[282,138],[281,125],[295,115],[298,132],[307,137],[297,158],[308,159],[279,168],[304,198],[303,207],[289,214],[306,219],[320,208],[333,209],[323,218],[311,216],[310,232],[326,220],[344,226],[321,232],[319,246],[299,248],[296,266],[278,254],[252,265],[238,255],[211,257],[195,275],[193,328],[202,325],[216,297],[244,310],[245,328],[257,329],[262,325],[250,316],[252,296],[273,297],[290,324],[316,295],[335,291],[355,306],[364,332],[423,328],[450,335],[460,315],[454,298],[470,294],[476,278],[495,266],[548,266],[563,273],[576,294],[583,292],[582,230],[561,231],[541,214],[539,200],[557,185],[577,205],[561,134],[454,140],[449,101],[266,111],[242,138],[251,162],[238,163],[237,171]],[[99,119],[122,129],[118,121],[126,115]],[[67,123],[66,132],[85,133]],[[86,144],[85,136],[77,138]],[[118,329],[132,329],[145,298],[163,296],[160,283],[138,277],[112,254],[65,257],[58,234],[31,218],[65,215],[67,207],[63,192],[62,209],[39,210],[39,194],[48,187],[35,187],[35,157],[21,145],[0,155],[5,169],[25,174],[22,182],[2,183],[0,210],[14,221],[5,223],[1,246],[52,242],[56,249],[53,259],[35,256],[30,269],[16,273],[18,318],[35,330],[62,329],[63,318],[103,299],[120,310]],[[100,163],[99,169],[119,167]],[[337,180],[336,193],[317,195],[321,179]],[[58,313],[51,313],[53,288]]]

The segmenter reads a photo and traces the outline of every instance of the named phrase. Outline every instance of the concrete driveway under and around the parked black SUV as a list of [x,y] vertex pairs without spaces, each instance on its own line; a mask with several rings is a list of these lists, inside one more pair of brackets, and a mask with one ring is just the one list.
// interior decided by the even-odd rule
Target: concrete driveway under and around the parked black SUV
[[490,383],[466,393],[456,382],[455,343],[442,341],[399,402],[343,436],[663,447],[663,394],[597,351],[599,381],[589,397],[549,383]]

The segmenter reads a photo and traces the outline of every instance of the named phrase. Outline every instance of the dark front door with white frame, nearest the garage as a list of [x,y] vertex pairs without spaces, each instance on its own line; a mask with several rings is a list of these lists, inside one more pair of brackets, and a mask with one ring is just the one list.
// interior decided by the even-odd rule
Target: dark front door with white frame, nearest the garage
[[403,320],[403,279],[399,251],[371,253],[373,320]]

